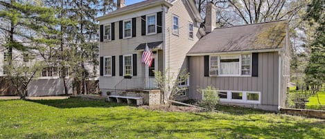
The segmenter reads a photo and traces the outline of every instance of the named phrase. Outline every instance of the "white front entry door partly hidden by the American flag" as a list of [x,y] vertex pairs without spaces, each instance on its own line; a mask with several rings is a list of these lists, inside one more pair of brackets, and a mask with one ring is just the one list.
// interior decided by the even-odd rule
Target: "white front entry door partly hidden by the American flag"
[[157,53],[154,53],[154,59],[151,66],[146,66],[146,89],[155,89],[155,70],[158,70],[158,57]]

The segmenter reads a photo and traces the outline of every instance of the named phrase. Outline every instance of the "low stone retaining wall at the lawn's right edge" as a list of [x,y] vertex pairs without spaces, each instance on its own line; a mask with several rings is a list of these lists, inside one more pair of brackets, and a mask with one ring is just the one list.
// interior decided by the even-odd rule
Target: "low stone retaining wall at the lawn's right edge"
[[289,115],[300,115],[308,118],[325,119],[325,111],[320,110],[281,108],[280,112]]

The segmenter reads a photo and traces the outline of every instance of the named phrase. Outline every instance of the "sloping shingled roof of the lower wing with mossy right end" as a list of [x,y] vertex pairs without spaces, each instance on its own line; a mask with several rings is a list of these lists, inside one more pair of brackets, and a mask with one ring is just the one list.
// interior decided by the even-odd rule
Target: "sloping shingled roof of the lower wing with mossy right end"
[[188,55],[282,48],[287,30],[287,20],[216,28],[197,41]]

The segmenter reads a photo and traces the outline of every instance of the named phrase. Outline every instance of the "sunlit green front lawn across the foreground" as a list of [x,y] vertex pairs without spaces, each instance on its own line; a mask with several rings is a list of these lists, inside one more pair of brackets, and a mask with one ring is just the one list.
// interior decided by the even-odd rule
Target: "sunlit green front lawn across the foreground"
[[78,98],[0,100],[0,138],[325,138],[324,120],[222,109],[229,113],[149,111]]

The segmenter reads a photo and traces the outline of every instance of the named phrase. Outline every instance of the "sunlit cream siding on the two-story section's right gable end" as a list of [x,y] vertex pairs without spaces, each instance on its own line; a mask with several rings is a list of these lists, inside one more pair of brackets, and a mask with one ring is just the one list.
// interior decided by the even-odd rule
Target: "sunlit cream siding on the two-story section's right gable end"
[[[198,26],[196,24],[195,18],[191,16],[191,9],[188,8],[184,1],[176,1],[173,3],[173,6],[168,9],[166,13],[166,68],[170,69],[170,75],[178,75],[179,71],[182,71],[182,64],[186,59],[186,53],[190,50],[193,45],[200,38],[199,33],[197,32]],[[179,17],[179,35],[173,34],[173,15]],[[194,38],[188,39],[188,22],[192,22],[194,25],[193,33]],[[202,75],[203,77],[203,75]],[[202,78],[200,85],[201,88],[207,86],[209,80]]]

